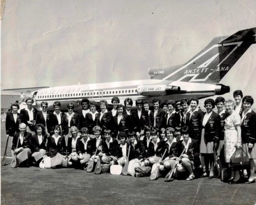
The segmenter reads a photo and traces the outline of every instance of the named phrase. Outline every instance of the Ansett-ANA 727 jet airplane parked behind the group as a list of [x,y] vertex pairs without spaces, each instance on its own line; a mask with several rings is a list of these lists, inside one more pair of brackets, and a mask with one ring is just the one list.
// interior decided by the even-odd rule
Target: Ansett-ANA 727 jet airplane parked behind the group
[[[99,102],[101,99],[111,104],[114,96],[120,103],[126,98],[141,99],[149,103],[156,97],[167,101],[183,98],[202,99],[223,95],[230,91],[221,80],[231,70],[247,49],[256,43],[256,27],[240,30],[231,36],[214,38],[202,51],[183,65],[166,68],[149,68],[150,79],[93,84],[78,84],[39,89],[32,92],[33,107],[39,109],[42,101],[48,102],[49,109],[55,101],[60,101],[62,109],[68,103],[79,105],[83,98]],[[134,103],[135,104],[135,103]],[[26,106],[23,103],[23,106]],[[22,107],[21,106],[21,109]]]

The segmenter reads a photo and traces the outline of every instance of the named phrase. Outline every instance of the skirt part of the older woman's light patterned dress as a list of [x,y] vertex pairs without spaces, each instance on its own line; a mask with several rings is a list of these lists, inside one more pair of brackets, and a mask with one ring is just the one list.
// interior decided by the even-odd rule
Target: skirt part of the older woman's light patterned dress
[[236,151],[237,131],[235,129],[224,132],[224,156],[225,162],[230,163],[230,158]]

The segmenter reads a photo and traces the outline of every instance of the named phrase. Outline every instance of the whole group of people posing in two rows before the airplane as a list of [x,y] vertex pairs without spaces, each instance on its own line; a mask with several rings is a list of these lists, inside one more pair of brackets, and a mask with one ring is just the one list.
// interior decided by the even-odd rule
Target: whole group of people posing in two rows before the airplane
[[[26,99],[27,107],[20,110],[12,104],[6,116],[6,134],[13,136],[12,154],[19,166],[35,166],[45,157],[51,157],[51,167],[62,167],[64,156],[69,166],[86,169],[92,160],[101,165],[119,164],[138,159],[141,166],[153,166],[162,158],[160,171],[166,172],[179,163],[177,176],[186,180],[195,177],[214,177],[214,154],[221,158],[223,167],[230,167],[230,158],[239,148],[250,158],[247,183],[255,182],[256,113],[252,110],[254,99],[234,91],[233,100],[223,97],[207,99],[206,112],[198,107],[198,100],[169,100],[160,103],[135,102],[131,110],[130,98],[120,104],[113,97],[112,110],[107,102],[83,99],[82,108],[74,112],[74,104],[67,105],[67,113],[55,102],[54,112],[32,107],[33,99]],[[100,111],[97,111],[99,104]],[[213,109],[217,107],[217,112]],[[163,156],[164,155],[164,156]],[[180,157],[181,156],[181,157]],[[177,160],[179,160],[177,162]],[[201,173],[205,166],[205,172]],[[232,171],[229,183],[239,183],[241,172]]]

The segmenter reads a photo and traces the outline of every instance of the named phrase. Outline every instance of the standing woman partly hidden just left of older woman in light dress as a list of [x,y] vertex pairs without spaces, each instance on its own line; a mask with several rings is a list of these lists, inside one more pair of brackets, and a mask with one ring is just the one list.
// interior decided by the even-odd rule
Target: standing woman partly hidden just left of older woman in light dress
[[220,156],[221,162],[223,163],[224,166],[224,124],[225,124],[225,118],[227,117],[227,113],[225,112],[225,109],[223,109],[224,107],[224,102],[225,99],[223,97],[218,97],[215,99],[215,104],[217,106],[218,109],[218,115],[220,115],[220,120],[221,120],[221,127],[220,127],[220,131],[219,131],[219,146],[218,146],[218,155]]

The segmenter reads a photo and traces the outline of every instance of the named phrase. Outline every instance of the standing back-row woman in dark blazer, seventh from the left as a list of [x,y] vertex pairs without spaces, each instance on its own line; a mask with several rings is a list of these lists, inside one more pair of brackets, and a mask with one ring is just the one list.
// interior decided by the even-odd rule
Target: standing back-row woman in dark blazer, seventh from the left
[[96,111],[96,102],[91,101],[89,103],[90,112],[85,115],[85,127],[89,129],[89,134],[93,133],[93,128],[97,125],[97,121],[99,119],[99,113]]

